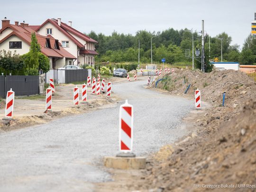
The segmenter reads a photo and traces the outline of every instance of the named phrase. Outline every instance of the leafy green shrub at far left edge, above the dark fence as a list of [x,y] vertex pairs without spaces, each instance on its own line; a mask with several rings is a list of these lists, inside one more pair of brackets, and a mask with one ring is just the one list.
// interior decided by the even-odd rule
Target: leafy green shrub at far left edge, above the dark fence
[[19,54],[14,51],[6,52],[6,50],[0,50],[0,73],[4,75],[24,75],[24,61]]

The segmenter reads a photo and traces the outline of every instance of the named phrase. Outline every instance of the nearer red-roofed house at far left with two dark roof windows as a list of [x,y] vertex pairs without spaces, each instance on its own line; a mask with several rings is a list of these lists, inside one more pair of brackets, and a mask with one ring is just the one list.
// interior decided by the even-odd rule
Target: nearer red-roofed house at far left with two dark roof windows
[[17,21],[15,25],[12,25],[9,20],[2,20],[0,50],[11,51],[12,53],[16,50],[19,55],[23,55],[29,51],[31,34],[35,33],[41,52],[49,58],[51,68],[73,65],[73,62],[77,59],[76,56],[65,50],[52,35],[41,35],[36,32],[35,28],[38,28],[38,26],[30,27],[26,23],[20,23],[19,25]]

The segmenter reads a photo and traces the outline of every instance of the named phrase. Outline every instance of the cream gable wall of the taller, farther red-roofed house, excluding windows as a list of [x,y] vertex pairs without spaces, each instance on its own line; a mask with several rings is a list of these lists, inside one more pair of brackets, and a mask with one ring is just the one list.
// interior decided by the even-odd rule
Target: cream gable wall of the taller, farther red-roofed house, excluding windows
[[[52,36],[58,40],[60,43],[62,43],[62,41],[69,41],[69,47],[64,47],[65,50],[67,50],[69,53],[71,53],[73,56],[77,57],[77,45],[71,41],[64,33],[62,33],[61,31],[59,31],[57,29],[57,27],[55,27],[54,25],[52,25],[51,23],[46,23],[46,25],[44,25],[40,30],[37,31],[37,33],[39,33],[40,35],[44,35],[46,36],[46,29],[47,28],[52,28]],[[64,62],[65,63],[65,62]],[[74,61],[74,65],[77,65],[77,60]],[[63,66],[61,66],[63,67]]]

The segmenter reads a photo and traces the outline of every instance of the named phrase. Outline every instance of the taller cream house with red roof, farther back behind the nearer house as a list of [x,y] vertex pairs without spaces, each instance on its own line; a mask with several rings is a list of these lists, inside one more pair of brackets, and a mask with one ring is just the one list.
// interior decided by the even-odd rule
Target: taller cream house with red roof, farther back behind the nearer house
[[74,65],[81,67],[83,64],[94,65],[95,44],[98,43],[89,36],[72,27],[72,22],[65,24],[58,19],[47,19],[42,25],[30,26],[40,35],[51,35],[61,42],[62,48],[70,52],[77,59]]

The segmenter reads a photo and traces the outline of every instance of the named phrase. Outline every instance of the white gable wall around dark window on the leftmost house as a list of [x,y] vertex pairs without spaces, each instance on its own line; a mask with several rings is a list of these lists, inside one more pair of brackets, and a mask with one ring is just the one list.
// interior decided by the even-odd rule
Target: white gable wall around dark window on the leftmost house
[[[9,49],[9,42],[22,42],[21,47],[22,49]],[[11,51],[11,53],[14,53],[16,50],[16,53],[19,55],[23,55],[29,51],[30,45],[28,45],[26,42],[22,41],[20,38],[18,38],[16,35],[10,36],[7,40],[2,42],[0,44],[0,50],[6,50]]]

